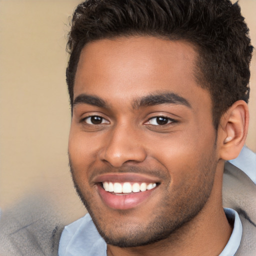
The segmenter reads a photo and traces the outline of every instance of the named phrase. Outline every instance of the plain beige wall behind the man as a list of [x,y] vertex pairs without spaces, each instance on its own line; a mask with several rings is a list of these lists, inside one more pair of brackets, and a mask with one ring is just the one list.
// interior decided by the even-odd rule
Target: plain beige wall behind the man
[[[83,215],[69,174],[68,17],[78,0],[0,0],[0,207],[39,194],[65,222]],[[256,46],[256,0],[240,0]],[[254,54],[255,55],[255,54]],[[256,151],[256,57],[247,145]]]

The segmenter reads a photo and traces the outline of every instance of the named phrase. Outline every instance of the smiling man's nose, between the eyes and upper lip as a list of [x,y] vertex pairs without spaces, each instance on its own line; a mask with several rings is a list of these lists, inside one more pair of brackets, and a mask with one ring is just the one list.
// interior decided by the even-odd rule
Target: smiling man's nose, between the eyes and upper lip
[[119,126],[108,134],[105,146],[99,157],[114,167],[120,167],[127,162],[142,162],[146,152],[140,143],[139,134],[131,127]]

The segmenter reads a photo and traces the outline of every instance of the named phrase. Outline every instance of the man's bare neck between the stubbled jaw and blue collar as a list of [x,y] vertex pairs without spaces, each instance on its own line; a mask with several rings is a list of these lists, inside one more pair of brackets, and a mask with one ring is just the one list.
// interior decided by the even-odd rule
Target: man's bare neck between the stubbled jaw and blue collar
[[232,232],[222,208],[222,174],[216,171],[211,195],[202,210],[168,238],[137,247],[107,245],[107,255],[219,255]]

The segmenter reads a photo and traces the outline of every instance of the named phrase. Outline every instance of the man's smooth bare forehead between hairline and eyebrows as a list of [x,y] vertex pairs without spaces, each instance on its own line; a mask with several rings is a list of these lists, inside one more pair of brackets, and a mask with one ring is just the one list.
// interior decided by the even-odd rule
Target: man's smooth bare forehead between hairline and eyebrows
[[82,49],[74,82],[81,93],[122,103],[157,91],[188,100],[208,94],[198,86],[196,51],[188,42],[156,37],[120,37],[88,43]]

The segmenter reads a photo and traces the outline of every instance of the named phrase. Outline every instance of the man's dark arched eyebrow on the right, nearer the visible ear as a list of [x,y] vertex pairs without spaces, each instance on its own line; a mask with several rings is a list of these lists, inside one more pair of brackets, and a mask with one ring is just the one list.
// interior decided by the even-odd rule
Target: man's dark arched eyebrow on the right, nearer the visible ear
[[157,94],[150,94],[139,99],[135,99],[133,102],[133,108],[139,108],[143,106],[153,106],[159,104],[181,104],[191,108],[190,103],[182,96],[173,92],[162,92]]

